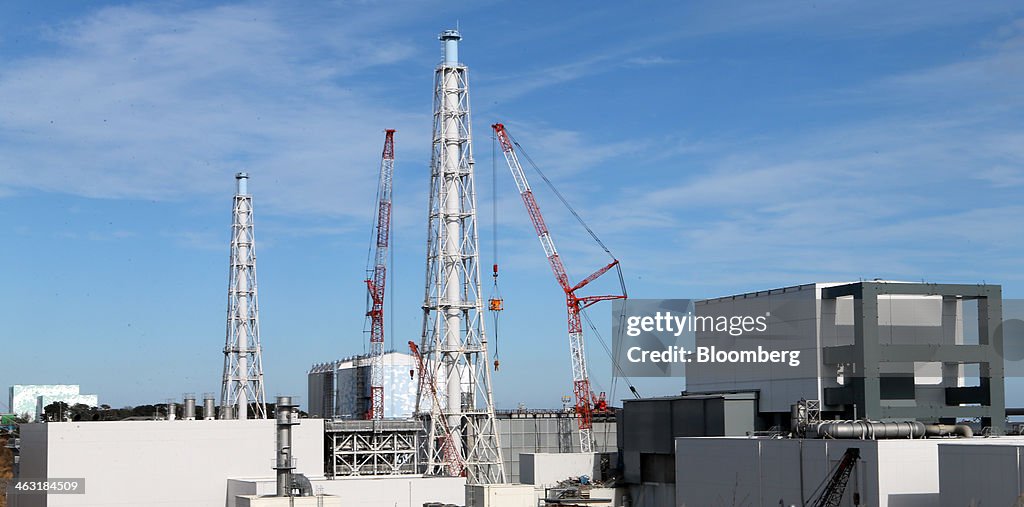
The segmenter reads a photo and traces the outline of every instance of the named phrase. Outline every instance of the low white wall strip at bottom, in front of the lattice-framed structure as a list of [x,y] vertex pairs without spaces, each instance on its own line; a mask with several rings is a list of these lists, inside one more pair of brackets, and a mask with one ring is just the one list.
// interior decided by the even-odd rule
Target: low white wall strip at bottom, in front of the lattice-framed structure
[[[323,489],[325,495],[341,498],[345,505],[360,507],[422,507],[426,502],[463,505],[466,498],[464,477],[339,477],[332,480],[311,479],[313,492]],[[232,479],[228,496],[272,495],[274,481]],[[223,504],[221,504],[223,505]],[[228,507],[236,503],[228,503]]]

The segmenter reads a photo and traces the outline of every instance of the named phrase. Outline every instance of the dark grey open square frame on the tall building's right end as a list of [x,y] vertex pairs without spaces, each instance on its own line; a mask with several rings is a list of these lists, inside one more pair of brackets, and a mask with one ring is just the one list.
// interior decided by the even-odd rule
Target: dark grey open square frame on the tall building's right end
[[[942,298],[942,325],[921,327],[904,336],[916,334],[916,340],[887,340],[879,322],[880,297],[932,296]],[[853,298],[853,343],[828,345],[822,341],[822,364],[842,366],[848,375],[845,385],[825,387],[823,405],[844,407],[847,417],[872,420],[919,420],[955,422],[956,418],[980,418],[983,427],[1001,433],[1006,420],[1004,387],[1002,301],[997,285],[904,284],[859,282],[821,289],[822,321],[828,308],[840,298]],[[943,331],[972,326],[965,318],[965,303],[977,308],[977,336]],[[973,311],[972,311],[973,313]],[[972,315],[973,316],[973,315]],[[895,318],[891,318],[895,320]],[[895,327],[900,323],[891,322]],[[902,326],[907,328],[907,326]],[[972,335],[964,329],[964,335]],[[976,343],[970,343],[976,341]],[[977,386],[943,386],[943,399],[928,403],[920,399],[915,388],[915,364],[941,364],[944,371],[957,371],[964,365],[977,367]],[[887,365],[896,365],[887,368]],[[899,366],[903,365],[903,368]],[[909,365],[909,368],[905,366]],[[963,375],[963,374],[962,374]],[[954,374],[955,378],[955,374]],[[899,404],[894,402],[903,400]],[[824,410],[824,408],[823,408]]]

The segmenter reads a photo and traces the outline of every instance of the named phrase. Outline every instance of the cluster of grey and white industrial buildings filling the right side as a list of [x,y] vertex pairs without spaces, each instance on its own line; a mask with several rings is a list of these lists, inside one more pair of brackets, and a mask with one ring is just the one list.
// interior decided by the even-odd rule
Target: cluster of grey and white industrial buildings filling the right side
[[[804,505],[855,448],[861,458],[837,505],[1016,505],[1024,439],[995,436],[1006,418],[1000,298],[996,285],[874,281],[696,302],[698,314],[771,314],[767,339],[801,350],[809,368],[687,365],[678,396],[626,400],[627,496],[633,505]],[[742,348],[766,337],[727,339]],[[807,407],[817,426],[801,426]],[[930,426],[965,420],[992,436]],[[844,439],[808,430],[829,425],[862,431]],[[893,427],[905,434],[882,431]],[[935,427],[947,436],[926,438]],[[989,456],[1007,466],[982,465]]]

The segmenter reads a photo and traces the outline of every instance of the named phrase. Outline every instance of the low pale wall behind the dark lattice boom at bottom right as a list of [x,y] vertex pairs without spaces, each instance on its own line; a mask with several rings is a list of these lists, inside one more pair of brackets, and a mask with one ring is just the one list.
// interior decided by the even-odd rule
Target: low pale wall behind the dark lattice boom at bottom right
[[[677,438],[677,505],[803,505],[848,448],[861,459],[842,505],[930,507],[939,503],[938,446],[945,439]],[[992,504],[986,504],[992,505]]]

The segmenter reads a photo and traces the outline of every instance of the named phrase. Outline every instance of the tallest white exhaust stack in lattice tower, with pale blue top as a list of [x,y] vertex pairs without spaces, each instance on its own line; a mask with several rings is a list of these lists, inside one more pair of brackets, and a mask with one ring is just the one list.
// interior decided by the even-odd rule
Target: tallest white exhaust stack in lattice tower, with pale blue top
[[[459,31],[445,30],[439,39],[421,342],[438,392],[421,382],[416,410],[428,432],[427,474],[459,473],[461,461],[468,483],[500,483],[505,471],[483,327],[469,74],[459,61]],[[428,404],[429,416],[420,409]]]

